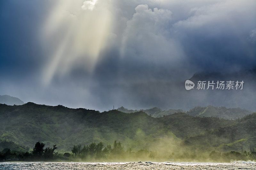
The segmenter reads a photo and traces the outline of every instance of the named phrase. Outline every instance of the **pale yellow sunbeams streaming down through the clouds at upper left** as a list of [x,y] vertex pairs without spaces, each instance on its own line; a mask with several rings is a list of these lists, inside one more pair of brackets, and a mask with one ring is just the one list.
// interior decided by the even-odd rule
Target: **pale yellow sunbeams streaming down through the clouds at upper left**
[[[111,28],[109,6],[111,4],[97,3],[97,0],[84,1],[82,6],[81,1],[56,4],[43,30],[46,43],[56,38],[59,44],[45,68],[45,84],[49,84],[55,74],[67,73],[77,61],[84,63],[85,70],[93,69]],[[56,37],[61,29],[62,34]]]

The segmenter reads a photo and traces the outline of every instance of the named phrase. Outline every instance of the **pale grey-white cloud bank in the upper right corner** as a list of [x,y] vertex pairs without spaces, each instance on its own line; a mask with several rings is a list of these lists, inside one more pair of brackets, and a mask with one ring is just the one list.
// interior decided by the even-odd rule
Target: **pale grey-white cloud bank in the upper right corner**
[[187,18],[177,21],[174,26],[176,30],[184,33],[193,31],[210,36],[233,33],[240,36],[255,25],[255,22],[251,23],[256,18],[255,5],[253,0],[224,0],[197,5],[190,8]]

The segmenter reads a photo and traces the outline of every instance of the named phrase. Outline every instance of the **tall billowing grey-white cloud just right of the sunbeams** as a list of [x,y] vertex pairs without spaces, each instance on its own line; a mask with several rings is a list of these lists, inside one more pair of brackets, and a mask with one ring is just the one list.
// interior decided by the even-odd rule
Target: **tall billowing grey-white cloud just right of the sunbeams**
[[135,61],[170,64],[183,58],[179,42],[172,36],[172,12],[140,4],[124,31],[122,55]]

